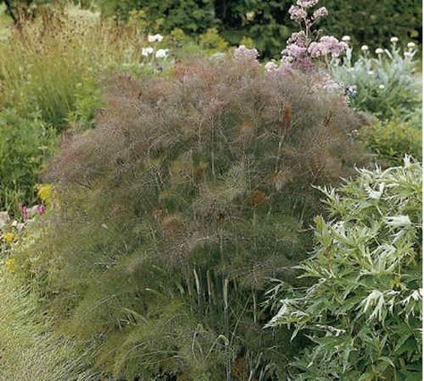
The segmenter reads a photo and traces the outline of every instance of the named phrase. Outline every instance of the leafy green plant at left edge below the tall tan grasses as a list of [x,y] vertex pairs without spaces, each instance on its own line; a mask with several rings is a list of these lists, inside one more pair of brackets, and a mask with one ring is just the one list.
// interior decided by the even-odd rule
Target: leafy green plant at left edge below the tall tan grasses
[[16,212],[33,205],[44,161],[55,151],[56,133],[39,114],[23,119],[13,110],[0,113],[0,207]]

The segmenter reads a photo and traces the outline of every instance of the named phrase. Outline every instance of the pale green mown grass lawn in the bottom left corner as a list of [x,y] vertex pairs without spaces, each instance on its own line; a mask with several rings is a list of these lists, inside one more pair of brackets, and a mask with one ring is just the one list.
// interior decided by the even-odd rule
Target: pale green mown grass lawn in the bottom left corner
[[0,379],[90,380],[89,351],[55,337],[37,308],[34,295],[0,262]]

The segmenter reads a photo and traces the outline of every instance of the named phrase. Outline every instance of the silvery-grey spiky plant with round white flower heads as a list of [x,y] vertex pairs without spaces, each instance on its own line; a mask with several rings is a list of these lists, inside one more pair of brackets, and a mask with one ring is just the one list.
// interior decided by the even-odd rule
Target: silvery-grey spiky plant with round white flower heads
[[416,128],[420,129],[417,52],[414,43],[402,47],[398,38],[391,38],[389,48],[377,47],[374,53],[363,45],[356,60],[352,57],[352,47],[349,47],[343,58],[332,59],[329,69],[334,80],[343,83],[352,93],[353,107],[383,120],[413,119]]

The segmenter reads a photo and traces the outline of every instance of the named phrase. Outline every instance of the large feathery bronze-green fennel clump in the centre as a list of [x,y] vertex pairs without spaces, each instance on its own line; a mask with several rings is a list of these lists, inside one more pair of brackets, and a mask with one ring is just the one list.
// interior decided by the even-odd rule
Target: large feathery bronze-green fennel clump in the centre
[[50,164],[56,207],[17,273],[108,375],[283,379],[301,340],[262,329],[263,290],[310,248],[312,185],[366,161],[361,118],[249,55],[118,76],[106,99]]

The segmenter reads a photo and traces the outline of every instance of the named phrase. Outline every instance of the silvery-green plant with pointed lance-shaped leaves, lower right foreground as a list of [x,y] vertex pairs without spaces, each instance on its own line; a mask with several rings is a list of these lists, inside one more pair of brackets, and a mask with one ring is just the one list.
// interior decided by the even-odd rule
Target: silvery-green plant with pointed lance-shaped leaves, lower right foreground
[[283,305],[269,323],[310,337],[296,379],[420,379],[420,164],[406,157],[323,191],[334,219],[318,217],[313,256],[299,267],[314,284],[278,285]]

